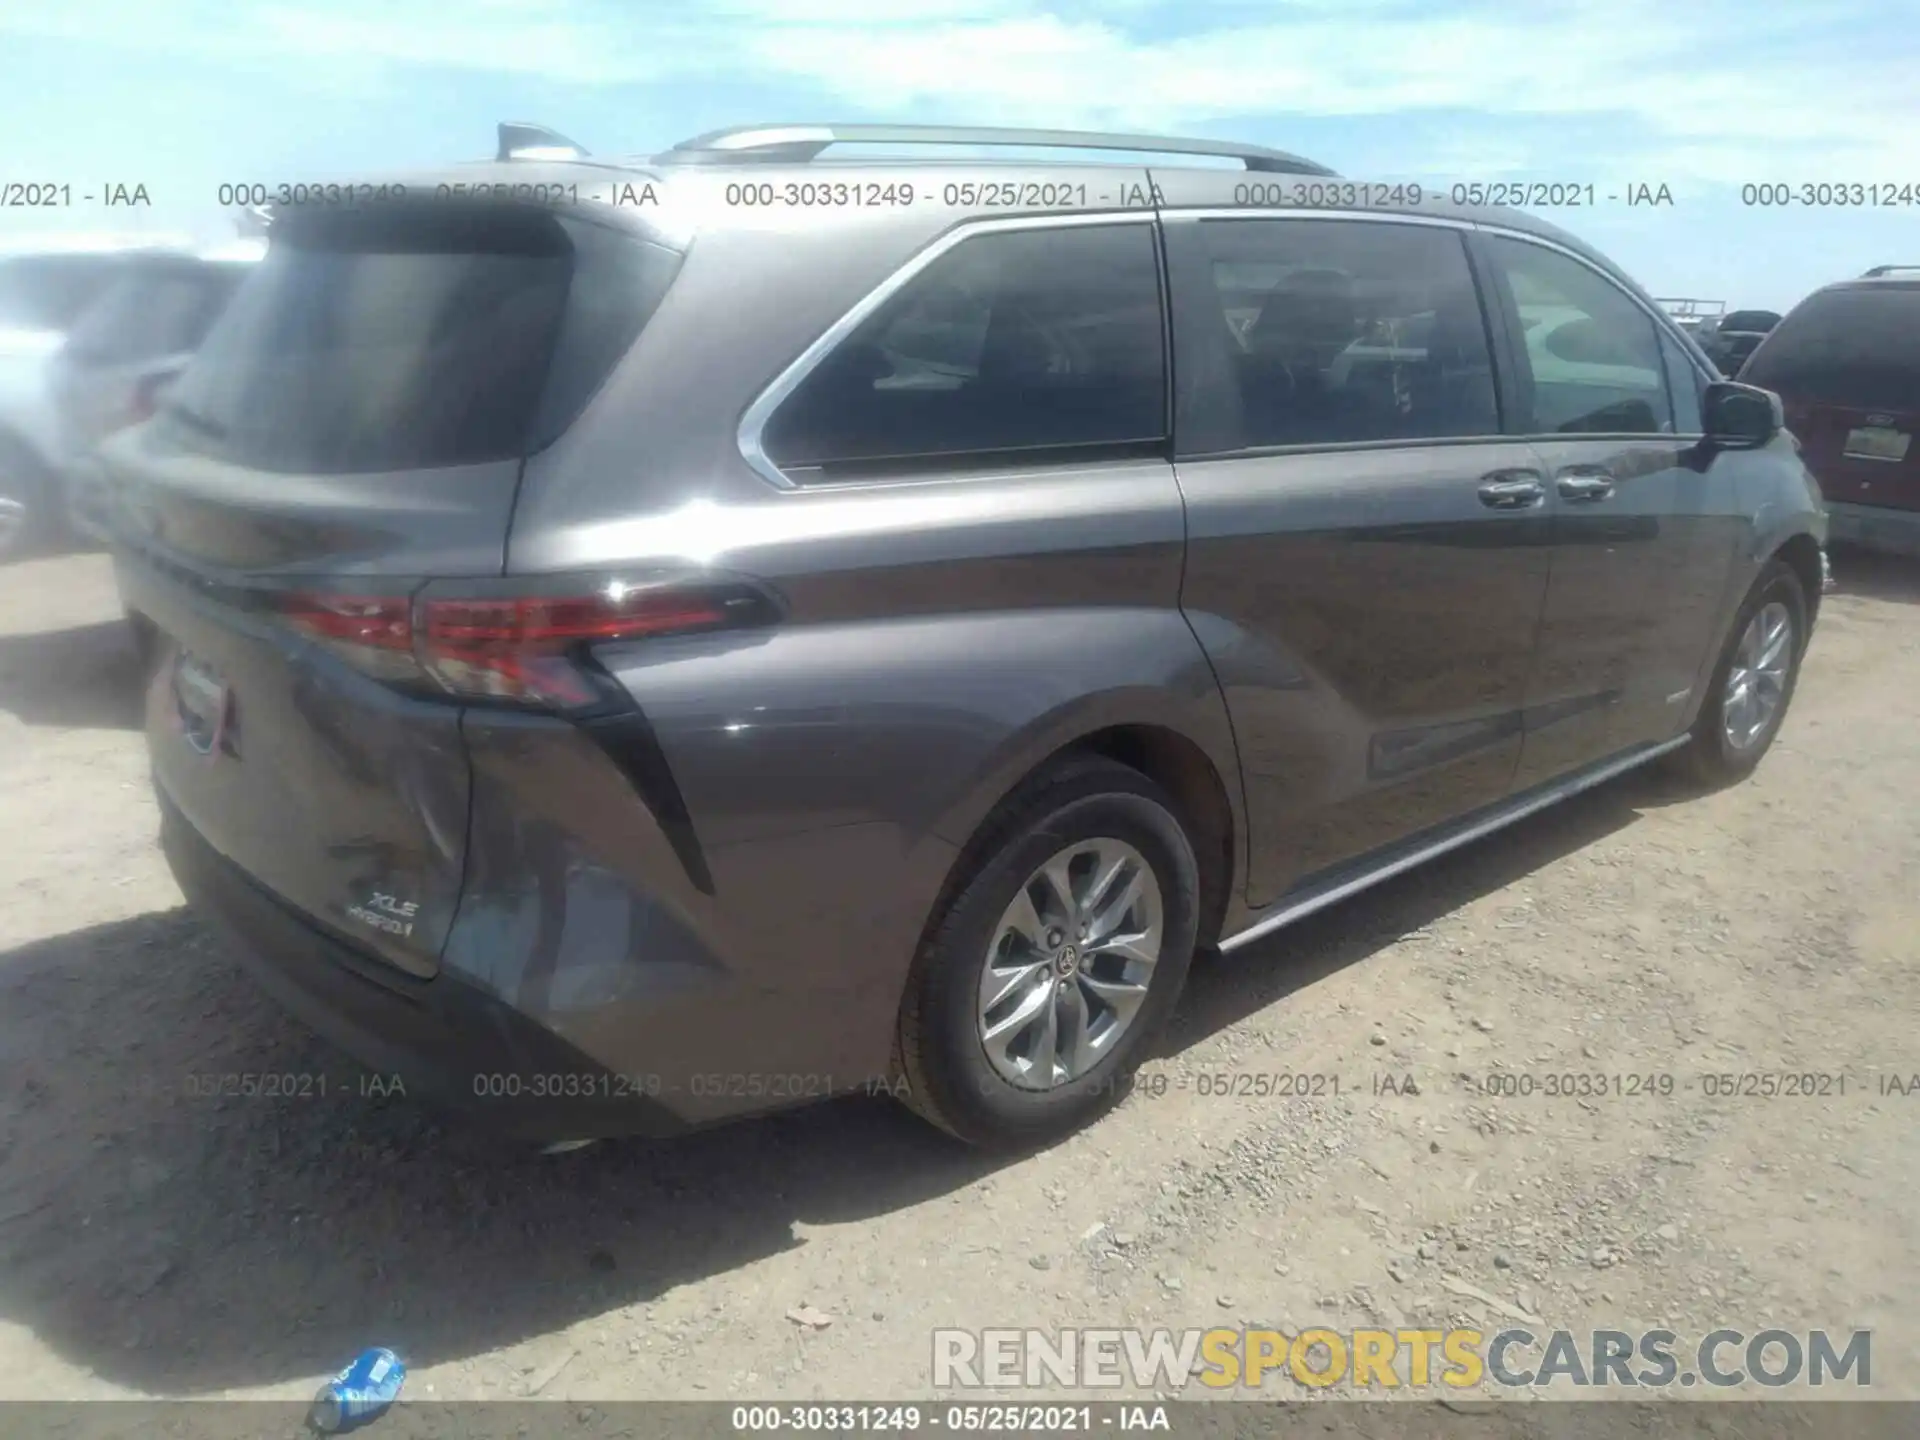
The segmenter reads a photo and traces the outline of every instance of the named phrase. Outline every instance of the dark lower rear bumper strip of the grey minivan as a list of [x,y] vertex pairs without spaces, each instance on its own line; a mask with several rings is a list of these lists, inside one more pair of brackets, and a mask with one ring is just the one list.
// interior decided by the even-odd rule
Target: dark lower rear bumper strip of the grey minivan
[[[674,1135],[672,1077],[614,1075],[553,1031],[453,973],[415,979],[288,910],[159,797],[161,849],[188,902],[236,941],[242,964],[296,1020],[407,1096],[528,1140]],[[392,1089],[388,1089],[392,1092]]]

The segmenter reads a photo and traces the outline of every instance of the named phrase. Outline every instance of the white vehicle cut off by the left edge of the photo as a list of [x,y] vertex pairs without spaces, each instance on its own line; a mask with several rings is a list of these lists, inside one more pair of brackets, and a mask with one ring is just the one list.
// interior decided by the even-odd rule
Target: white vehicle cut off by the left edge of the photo
[[0,559],[58,530],[54,355],[127,259],[180,236],[42,234],[0,240]]

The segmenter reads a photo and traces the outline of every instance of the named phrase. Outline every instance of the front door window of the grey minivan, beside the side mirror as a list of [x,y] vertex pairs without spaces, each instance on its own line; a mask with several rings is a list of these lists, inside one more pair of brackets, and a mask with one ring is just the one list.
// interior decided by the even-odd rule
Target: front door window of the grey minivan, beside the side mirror
[[1634,300],[1553,250],[1488,238],[1519,313],[1526,434],[1672,434],[1659,328]]

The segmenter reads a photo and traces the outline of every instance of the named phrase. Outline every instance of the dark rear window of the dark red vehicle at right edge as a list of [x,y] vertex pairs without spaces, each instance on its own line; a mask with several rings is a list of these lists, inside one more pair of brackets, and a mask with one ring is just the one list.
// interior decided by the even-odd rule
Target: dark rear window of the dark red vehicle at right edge
[[1801,403],[1920,409],[1920,288],[1822,290],[1780,321],[1740,378]]

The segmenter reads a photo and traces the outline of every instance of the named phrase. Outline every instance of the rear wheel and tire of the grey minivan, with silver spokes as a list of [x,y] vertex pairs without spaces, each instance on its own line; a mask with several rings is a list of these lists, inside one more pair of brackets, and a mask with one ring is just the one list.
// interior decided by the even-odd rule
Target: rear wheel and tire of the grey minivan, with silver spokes
[[[1021,785],[962,864],[966,879],[927,925],[908,972],[897,1092],[970,1144],[1048,1144],[1125,1094],[1179,1002],[1200,916],[1192,841],[1160,785],[1129,766],[1087,756]],[[1043,874],[1050,866],[1081,897],[1075,914],[1058,904],[1058,883]],[[1092,895],[1102,870],[1116,876],[1104,897]],[[1135,883],[1135,874],[1144,879]],[[1020,910],[1023,897],[1031,916]],[[1114,902],[1102,906],[1102,899]],[[1117,904],[1131,908],[1116,916]],[[1023,920],[1008,927],[1016,910]],[[1037,945],[1027,939],[1035,931],[1044,931]],[[1085,968],[1077,968],[1079,945],[1087,947]],[[1156,952],[1150,964],[1139,958],[1146,948]],[[989,989],[1021,975],[991,1008]],[[1119,1004],[1110,1006],[1110,998]],[[1029,1006],[1037,1018],[1021,1020]],[[1110,1023],[1116,1029],[1102,1029]]]

